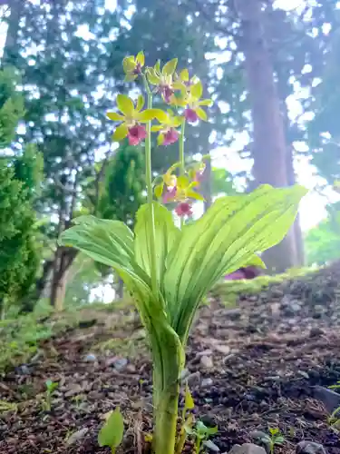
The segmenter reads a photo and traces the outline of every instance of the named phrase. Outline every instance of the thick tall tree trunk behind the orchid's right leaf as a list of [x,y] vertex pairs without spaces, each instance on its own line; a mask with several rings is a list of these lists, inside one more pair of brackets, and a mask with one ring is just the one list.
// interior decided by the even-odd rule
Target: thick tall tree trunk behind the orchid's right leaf
[[[253,176],[257,183],[287,186],[287,144],[274,70],[262,24],[261,0],[235,0],[240,18],[240,45],[253,120]],[[296,265],[294,230],[274,248],[264,252],[268,271],[282,272]]]

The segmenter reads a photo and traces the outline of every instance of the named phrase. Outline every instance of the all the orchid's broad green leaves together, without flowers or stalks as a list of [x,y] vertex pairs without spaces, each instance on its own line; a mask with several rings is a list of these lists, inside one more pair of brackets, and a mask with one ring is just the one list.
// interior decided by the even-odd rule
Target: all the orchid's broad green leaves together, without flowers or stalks
[[[135,232],[122,222],[84,216],[63,232],[61,244],[112,266],[133,295],[149,334],[154,367],[156,426],[177,412],[184,348],[199,301],[225,273],[279,242],[306,190],[299,186],[257,191],[216,201],[198,222],[179,230],[157,202],[142,205]],[[155,225],[157,292],[151,287],[150,211]],[[159,432],[158,437],[166,434]]]

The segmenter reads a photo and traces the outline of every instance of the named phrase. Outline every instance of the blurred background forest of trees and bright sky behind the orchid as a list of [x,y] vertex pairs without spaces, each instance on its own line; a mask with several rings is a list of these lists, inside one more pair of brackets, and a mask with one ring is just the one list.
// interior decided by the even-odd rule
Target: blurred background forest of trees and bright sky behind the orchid
[[[110,270],[56,239],[84,213],[132,226],[144,201],[142,149],[117,148],[105,117],[131,89],[122,58],[140,50],[147,64],[178,56],[215,102],[186,145],[192,160],[210,155],[195,216],[222,193],[303,183],[310,193],[264,254],[268,270],[340,258],[339,25],[335,0],[2,2],[3,316],[121,296]],[[155,147],[157,173],[176,153]]]

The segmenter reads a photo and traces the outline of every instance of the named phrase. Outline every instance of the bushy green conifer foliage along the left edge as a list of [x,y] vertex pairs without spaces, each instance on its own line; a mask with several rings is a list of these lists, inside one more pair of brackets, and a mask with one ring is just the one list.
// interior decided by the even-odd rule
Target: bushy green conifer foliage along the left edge
[[[20,108],[22,97],[15,92],[16,80],[9,71],[0,72],[2,146],[14,138],[15,126],[24,114]],[[39,266],[34,244],[33,203],[42,173],[40,163],[32,145],[15,159],[0,160],[0,309],[3,314],[8,305],[21,301],[29,293]]]

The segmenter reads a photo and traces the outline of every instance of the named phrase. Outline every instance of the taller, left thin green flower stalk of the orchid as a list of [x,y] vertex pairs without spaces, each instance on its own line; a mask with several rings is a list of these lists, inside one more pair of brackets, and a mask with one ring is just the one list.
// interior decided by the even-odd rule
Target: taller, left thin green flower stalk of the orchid
[[[152,108],[152,94],[150,86],[143,74],[143,82],[146,93],[148,95],[148,109]],[[151,122],[146,125],[146,138],[145,138],[145,178],[148,192],[148,203],[150,206],[150,249],[151,249],[151,285],[154,296],[158,296],[158,281],[157,281],[157,266],[156,266],[156,232],[155,232],[155,213],[153,206],[153,190],[152,190],[152,167],[151,167]]]

